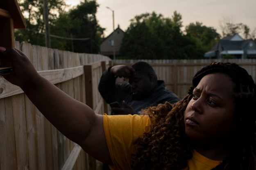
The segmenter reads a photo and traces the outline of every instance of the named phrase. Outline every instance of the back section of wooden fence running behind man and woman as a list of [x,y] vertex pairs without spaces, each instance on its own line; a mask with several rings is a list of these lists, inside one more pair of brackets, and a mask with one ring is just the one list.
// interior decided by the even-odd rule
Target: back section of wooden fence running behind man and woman
[[[131,65],[138,60],[115,60],[114,65]],[[183,98],[192,85],[193,76],[202,67],[212,62],[237,63],[245,68],[256,82],[256,59],[204,59],[204,60],[141,60],[150,63],[159,80],[164,80],[166,88]],[[118,79],[122,83],[121,79]]]

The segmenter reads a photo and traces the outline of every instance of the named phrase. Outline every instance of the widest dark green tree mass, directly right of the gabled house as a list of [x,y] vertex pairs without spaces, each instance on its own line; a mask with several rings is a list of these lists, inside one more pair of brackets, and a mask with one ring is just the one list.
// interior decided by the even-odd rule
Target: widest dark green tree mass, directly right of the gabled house
[[135,16],[125,32],[120,56],[131,59],[192,59],[203,58],[205,49],[193,37],[184,35],[181,14],[172,18],[144,13]]

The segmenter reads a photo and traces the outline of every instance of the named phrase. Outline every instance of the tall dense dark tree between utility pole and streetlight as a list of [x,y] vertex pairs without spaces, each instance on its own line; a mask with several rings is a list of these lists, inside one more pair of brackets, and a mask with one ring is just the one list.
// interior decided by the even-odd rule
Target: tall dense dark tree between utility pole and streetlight
[[[98,7],[99,5],[95,0],[87,0],[70,10],[67,14],[68,16],[60,16],[59,21],[62,20],[62,22],[68,18],[69,25],[67,25],[68,28],[66,29],[69,35],[72,35],[73,38],[85,38],[74,42],[75,52],[99,53],[104,28],[97,23],[96,13]],[[70,50],[71,43],[70,41],[67,42],[66,49]]]

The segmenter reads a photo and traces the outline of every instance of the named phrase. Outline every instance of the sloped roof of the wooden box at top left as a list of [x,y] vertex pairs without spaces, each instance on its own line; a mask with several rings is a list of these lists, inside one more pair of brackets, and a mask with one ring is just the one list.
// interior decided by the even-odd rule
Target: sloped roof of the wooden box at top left
[[20,11],[17,0],[1,0],[0,9],[8,11],[14,20],[14,28],[26,28],[26,22]]

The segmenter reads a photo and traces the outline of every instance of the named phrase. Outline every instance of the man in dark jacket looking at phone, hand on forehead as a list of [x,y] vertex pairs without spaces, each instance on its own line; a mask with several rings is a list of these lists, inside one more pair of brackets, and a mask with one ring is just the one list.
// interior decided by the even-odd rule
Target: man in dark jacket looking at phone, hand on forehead
[[[116,78],[128,78],[129,83],[116,83]],[[112,114],[140,114],[140,110],[159,103],[176,103],[180,98],[157,80],[154,69],[139,61],[131,66],[109,67],[101,76],[99,92],[106,103],[118,102],[120,108],[112,107]]]

